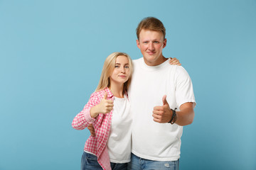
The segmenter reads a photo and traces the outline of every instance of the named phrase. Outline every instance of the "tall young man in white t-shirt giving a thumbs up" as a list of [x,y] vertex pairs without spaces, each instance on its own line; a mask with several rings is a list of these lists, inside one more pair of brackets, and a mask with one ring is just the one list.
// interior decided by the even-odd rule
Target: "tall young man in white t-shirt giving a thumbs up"
[[143,57],[133,61],[128,92],[133,116],[132,170],[178,169],[183,126],[194,118],[191,79],[183,67],[170,65],[163,56],[165,34],[157,18],[144,18],[137,27],[137,47]]

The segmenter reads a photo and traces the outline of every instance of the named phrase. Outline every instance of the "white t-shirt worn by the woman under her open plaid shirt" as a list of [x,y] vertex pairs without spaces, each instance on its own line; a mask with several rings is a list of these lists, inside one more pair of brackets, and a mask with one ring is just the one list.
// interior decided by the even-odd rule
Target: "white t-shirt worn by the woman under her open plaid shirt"
[[130,115],[129,100],[126,95],[124,95],[124,98],[114,97],[110,136],[107,140],[110,162],[130,162],[131,133],[132,115]]

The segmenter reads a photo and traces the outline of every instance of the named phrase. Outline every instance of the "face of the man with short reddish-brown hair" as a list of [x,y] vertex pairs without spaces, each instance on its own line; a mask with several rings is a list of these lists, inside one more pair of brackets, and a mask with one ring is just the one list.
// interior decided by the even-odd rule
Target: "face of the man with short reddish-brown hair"
[[137,40],[137,47],[141,50],[147,65],[156,66],[165,61],[162,50],[166,47],[166,39],[163,33],[142,29],[139,33],[139,40]]

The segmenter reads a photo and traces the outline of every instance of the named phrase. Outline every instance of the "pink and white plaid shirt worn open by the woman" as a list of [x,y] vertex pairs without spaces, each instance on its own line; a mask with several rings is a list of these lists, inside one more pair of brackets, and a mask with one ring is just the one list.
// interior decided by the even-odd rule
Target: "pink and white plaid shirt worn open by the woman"
[[90,116],[90,109],[100,103],[104,94],[107,92],[107,100],[114,100],[114,96],[110,89],[105,88],[101,91],[96,91],[90,96],[90,100],[85,105],[78,115],[75,116],[72,127],[76,130],[83,130],[92,123],[95,128],[95,137],[90,137],[85,142],[84,150],[91,152],[97,156],[97,161],[99,162],[102,169],[111,170],[110,167],[110,156],[107,150],[107,138],[110,134],[110,126],[112,120],[112,111],[110,113],[100,113],[97,118],[92,118]]

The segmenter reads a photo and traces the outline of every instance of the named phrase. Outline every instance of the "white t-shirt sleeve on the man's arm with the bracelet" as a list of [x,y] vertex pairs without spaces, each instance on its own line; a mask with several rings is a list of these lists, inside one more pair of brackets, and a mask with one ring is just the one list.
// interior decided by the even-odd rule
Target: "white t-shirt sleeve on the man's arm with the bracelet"
[[178,107],[187,102],[196,103],[191,78],[189,77],[188,72],[186,72],[186,69],[181,66],[176,68],[175,84],[176,102]]

